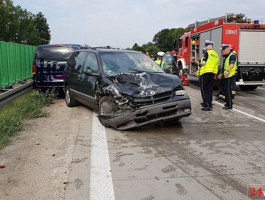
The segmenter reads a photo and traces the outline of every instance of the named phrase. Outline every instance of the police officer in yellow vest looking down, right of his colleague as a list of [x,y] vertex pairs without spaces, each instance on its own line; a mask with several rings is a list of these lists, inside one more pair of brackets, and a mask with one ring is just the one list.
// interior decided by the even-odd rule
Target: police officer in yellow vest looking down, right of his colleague
[[221,73],[219,74],[218,78],[222,79],[222,87],[226,101],[225,107],[223,109],[231,110],[233,109],[231,85],[233,83],[233,79],[235,78],[237,57],[233,52],[231,52],[230,45],[222,44],[221,48],[223,50],[222,53],[224,55],[224,59]]

